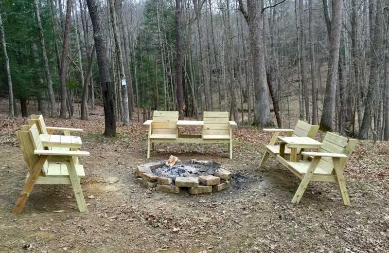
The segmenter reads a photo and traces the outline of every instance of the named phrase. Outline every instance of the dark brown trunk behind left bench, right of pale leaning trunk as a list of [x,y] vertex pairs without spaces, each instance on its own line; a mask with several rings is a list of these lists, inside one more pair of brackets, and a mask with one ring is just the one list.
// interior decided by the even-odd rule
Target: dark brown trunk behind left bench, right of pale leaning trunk
[[63,41],[63,50],[61,57],[61,72],[60,72],[60,86],[61,86],[61,110],[60,117],[66,119],[66,98],[67,98],[67,89],[66,89],[66,78],[68,74],[68,53],[69,53],[69,32],[70,32],[70,18],[71,18],[71,6],[73,5],[73,0],[68,0],[66,5],[66,18],[65,18],[65,28],[64,28],[64,41]]

